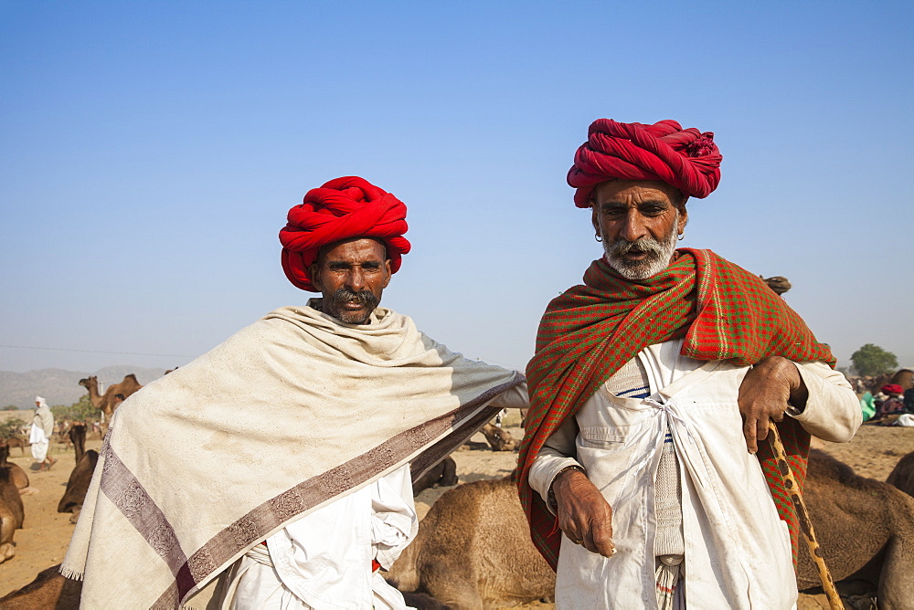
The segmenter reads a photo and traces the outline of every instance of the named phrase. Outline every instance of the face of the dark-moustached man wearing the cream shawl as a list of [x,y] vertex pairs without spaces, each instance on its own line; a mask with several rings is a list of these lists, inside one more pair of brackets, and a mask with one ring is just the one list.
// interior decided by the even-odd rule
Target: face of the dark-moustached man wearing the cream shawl
[[387,248],[368,237],[325,246],[309,271],[324,313],[346,324],[365,324],[390,283]]

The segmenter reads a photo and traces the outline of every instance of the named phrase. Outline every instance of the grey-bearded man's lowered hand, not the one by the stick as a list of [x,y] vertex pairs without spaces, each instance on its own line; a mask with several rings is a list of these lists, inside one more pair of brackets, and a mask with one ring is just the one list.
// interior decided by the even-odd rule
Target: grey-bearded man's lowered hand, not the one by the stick
[[569,469],[552,483],[558,507],[558,527],[571,542],[581,544],[590,552],[611,557],[612,509],[600,489],[580,470]]

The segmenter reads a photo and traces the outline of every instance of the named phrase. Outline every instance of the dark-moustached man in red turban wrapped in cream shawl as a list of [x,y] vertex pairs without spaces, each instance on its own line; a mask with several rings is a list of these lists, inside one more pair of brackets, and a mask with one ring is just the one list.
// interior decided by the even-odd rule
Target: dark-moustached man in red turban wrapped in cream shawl
[[118,409],[61,570],[84,580],[83,607],[202,607],[220,573],[228,608],[406,607],[377,569],[418,530],[410,464],[418,477],[526,406],[526,384],[377,307],[409,251],[405,216],[361,178],[310,191],[282,266],[323,299]]

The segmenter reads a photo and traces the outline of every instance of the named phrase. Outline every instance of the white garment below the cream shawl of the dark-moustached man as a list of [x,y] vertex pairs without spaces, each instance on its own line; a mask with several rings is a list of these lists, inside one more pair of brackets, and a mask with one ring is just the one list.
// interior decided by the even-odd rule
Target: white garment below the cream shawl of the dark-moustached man
[[419,531],[409,465],[293,521],[236,563],[223,608],[406,608],[371,562],[388,568]]

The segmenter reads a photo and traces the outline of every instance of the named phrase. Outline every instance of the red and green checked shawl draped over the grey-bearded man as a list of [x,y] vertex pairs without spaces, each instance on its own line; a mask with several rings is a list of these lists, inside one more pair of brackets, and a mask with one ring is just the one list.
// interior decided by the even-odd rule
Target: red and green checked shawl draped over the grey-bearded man
[[[560,532],[545,502],[530,488],[530,466],[546,439],[601,384],[647,345],[685,336],[683,355],[696,360],[758,363],[766,356],[794,362],[825,361],[827,345],[815,341],[799,315],[760,279],[710,250],[677,250],[674,262],[650,279],[632,282],[595,260],[575,286],[547,307],[537,333],[537,354],[527,364],[530,410],[520,448],[521,503],[530,534],[553,569]],[[778,424],[797,480],[806,478],[810,436],[793,419]],[[791,531],[796,566],[799,524],[775,467],[771,447],[758,457],[778,514]]]

